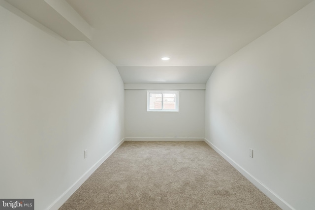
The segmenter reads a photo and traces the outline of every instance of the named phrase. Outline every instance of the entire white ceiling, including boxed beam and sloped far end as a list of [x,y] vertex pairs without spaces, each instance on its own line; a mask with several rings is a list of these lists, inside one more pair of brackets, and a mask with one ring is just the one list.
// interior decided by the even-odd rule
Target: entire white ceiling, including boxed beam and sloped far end
[[222,60],[313,0],[6,1],[88,42],[125,83],[205,83]]

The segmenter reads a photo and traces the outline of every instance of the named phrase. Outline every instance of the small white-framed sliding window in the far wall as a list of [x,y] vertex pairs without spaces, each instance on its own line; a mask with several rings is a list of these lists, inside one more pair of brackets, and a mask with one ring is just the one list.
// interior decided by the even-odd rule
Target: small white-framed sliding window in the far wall
[[148,112],[178,112],[178,91],[148,90]]

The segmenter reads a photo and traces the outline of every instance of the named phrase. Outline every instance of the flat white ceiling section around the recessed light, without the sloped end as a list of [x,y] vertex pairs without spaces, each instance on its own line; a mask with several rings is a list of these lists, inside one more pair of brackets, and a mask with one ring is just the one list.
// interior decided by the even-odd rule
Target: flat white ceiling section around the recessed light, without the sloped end
[[217,65],[311,1],[67,0],[116,66]]

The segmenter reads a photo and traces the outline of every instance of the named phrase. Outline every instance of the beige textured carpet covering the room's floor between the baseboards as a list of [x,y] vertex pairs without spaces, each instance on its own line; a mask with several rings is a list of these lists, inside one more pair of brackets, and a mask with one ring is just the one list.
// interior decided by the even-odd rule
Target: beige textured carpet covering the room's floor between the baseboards
[[280,210],[204,142],[125,142],[59,210]]

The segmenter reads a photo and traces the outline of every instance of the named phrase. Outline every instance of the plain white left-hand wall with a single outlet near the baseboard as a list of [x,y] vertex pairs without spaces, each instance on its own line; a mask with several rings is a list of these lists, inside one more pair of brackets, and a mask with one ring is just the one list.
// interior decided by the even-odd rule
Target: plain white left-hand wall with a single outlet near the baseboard
[[34,198],[36,210],[124,138],[117,68],[87,43],[56,37],[0,6],[0,198]]

